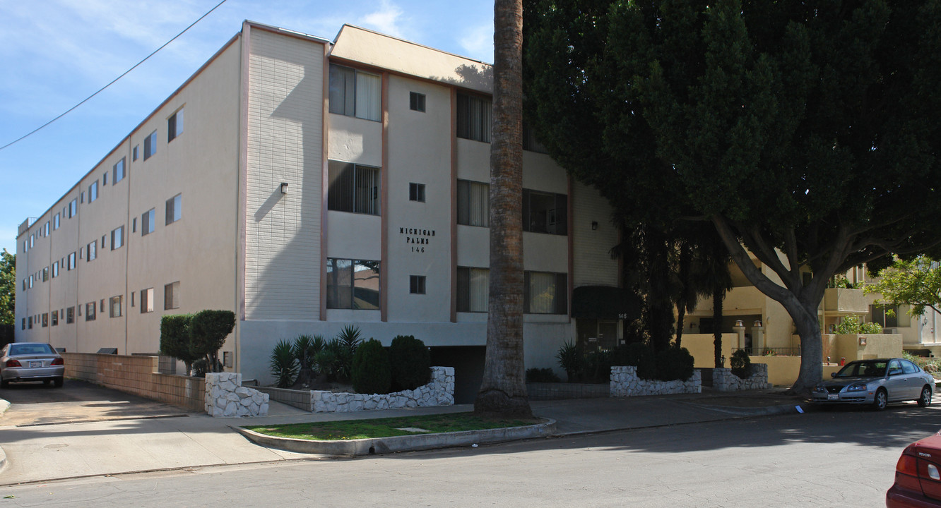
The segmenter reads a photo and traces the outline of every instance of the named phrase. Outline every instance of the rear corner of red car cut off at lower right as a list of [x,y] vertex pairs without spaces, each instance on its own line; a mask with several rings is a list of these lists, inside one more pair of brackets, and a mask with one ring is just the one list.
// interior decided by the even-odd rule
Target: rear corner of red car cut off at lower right
[[941,432],[905,447],[895,467],[888,508],[941,508]]

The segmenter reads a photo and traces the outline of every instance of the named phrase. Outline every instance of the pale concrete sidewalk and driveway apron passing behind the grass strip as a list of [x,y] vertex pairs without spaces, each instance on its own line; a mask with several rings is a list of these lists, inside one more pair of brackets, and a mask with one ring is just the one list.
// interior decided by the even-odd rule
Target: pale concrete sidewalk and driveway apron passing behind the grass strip
[[[796,399],[779,392],[702,393],[629,398],[535,401],[536,415],[556,421],[559,435],[713,422],[797,412]],[[2,403],[0,403],[2,404]],[[200,468],[280,460],[323,459],[256,445],[230,425],[324,422],[470,411],[470,405],[359,413],[309,413],[278,403],[268,416],[222,419],[189,413],[28,427],[0,426],[0,485],[150,470]]]

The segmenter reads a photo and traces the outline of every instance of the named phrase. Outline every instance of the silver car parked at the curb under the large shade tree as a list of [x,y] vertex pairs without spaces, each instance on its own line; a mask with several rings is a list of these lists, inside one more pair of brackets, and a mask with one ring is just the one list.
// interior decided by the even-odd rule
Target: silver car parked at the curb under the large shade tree
[[889,403],[932,403],[934,378],[903,358],[878,358],[849,362],[833,379],[818,383],[812,393],[815,404],[869,404],[877,411]]

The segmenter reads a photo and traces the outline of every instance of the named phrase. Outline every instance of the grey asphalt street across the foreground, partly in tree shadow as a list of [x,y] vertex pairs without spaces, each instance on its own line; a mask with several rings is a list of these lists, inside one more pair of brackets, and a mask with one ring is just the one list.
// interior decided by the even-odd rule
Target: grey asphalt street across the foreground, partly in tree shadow
[[6,506],[884,506],[941,408],[837,409],[379,457],[0,487]]

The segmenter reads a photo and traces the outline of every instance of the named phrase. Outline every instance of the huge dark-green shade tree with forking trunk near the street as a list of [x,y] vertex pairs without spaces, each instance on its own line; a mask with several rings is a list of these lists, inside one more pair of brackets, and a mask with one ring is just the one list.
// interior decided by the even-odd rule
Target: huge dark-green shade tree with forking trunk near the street
[[793,319],[795,391],[821,378],[827,281],[941,239],[941,3],[532,0],[526,21],[550,154],[617,209],[711,224]]

